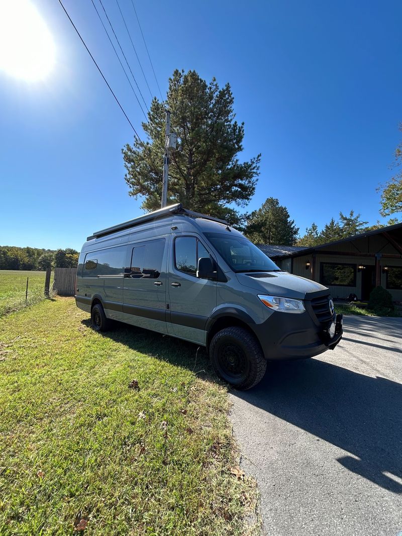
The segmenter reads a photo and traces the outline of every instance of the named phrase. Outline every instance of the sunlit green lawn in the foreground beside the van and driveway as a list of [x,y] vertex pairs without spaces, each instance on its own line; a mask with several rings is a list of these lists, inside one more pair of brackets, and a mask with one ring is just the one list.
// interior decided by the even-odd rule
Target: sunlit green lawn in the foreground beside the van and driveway
[[2,536],[259,530],[202,349],[124,325],[96,333],[71,298],[1,318],[0,341]]

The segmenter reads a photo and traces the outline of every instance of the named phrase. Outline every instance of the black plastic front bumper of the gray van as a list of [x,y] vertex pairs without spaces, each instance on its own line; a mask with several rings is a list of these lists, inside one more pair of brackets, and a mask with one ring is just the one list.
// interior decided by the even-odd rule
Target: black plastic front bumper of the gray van
[[[262,324],[252,324],[266,360],[306,359],[334,349],[342,338],[342,315],[334,315],[327,325],[316,325],[308,312],[289,314],[275,311]],[[335,322],[335,333],[329,326]]]

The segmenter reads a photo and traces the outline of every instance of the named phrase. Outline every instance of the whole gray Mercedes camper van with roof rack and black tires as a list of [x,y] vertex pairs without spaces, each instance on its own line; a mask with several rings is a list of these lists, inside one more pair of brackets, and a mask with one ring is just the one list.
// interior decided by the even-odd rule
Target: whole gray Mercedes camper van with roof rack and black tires
[[89,236],[76,303],[96,331],[117,320],[206,346],[238,389],[256,385],[267,361],[310,358],[342,337],[326,287],[281,270],[225,221],[180,203]]

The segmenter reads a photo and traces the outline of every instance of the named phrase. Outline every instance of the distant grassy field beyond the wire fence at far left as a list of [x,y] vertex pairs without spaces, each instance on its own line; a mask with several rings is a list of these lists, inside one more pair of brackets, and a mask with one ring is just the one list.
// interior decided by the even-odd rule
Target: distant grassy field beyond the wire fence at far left
[[0,316],[25,307],[27,277],[29,278],[27,305],[43,300],[45,275],[46,272],[0,270]]

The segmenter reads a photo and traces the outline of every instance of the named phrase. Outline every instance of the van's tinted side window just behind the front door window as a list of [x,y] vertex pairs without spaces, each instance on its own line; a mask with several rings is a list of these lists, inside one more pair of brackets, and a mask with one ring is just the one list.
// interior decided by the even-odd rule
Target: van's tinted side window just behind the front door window
[[131,254],[132,278],[158,279],[162,270],[165,239],[150,240],[145,244],[135,246]]

